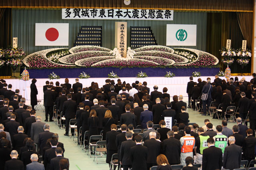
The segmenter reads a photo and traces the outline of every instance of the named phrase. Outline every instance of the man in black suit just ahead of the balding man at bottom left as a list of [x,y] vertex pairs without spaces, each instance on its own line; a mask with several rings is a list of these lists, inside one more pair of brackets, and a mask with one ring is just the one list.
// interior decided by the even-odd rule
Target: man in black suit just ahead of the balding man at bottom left
[[17,150],[19,154],[20,153],[20,148],[24,146],[24,139],[28,137],[28,135],[23,134],[24,128],[22,126],[18,127],[18,134],[14,134],[13,139],[12,139],[12,146],[14,150]]

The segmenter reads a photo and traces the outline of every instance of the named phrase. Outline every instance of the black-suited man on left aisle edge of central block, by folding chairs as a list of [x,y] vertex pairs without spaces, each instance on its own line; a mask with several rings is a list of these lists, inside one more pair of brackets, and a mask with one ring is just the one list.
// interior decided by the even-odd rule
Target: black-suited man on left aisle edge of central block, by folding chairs
[[70,119],[74,119],[76,117],[76,102],[72,100],[72,95],[67,95],[67,101],[63,103],[63,116],[66,118],[66,133],[65,136],[68,136],[68,129],[69,129],[69,121]]

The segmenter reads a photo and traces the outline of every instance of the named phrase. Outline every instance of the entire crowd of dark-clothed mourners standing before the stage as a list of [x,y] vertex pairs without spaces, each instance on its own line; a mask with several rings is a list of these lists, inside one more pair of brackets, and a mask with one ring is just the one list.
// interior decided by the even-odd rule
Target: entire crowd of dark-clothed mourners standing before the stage
[[[254,75],[256,79],[256,74]],[[205,119],[202,128],[197,124],[188,125],[187,107],[195,109],[198,97],[207,94],[201,99],[203,115],[206,115],[212,101],[216,106],[220,104],[217,99],[220,97],[217,94],[225,99],[224,96],[236,83],[230,79],[228,85],[225,84],[225,80],[219,85],[218,79],[216,76],[213,83],[210,78],[207,82],[198,79],[196,83],[193,82],[193,77],[190,77],[187,88],[188,106],[182,101],[182,95],[174,95],[173,101],[170,102],[170,94],[167,93],[166,87],[160,92],[155,85],[154,90],[150,92],[146,81],[136,81],[130,85],[125,81],[121,82],[120,79],[117,83],[106,79],[106,84],[101,88],[96,82],[92,82],[90,87],[83,88],[79,79],[76,79],[73,85],[68,79],[65,79],[64,84],[57,81],[55,86],[53,82],[46,81],[43,87],[44,121],[54,121],[53,107],[56,105],[56,112],[65,118],[65,136],[69,135],[70,120],[76,119],[78,132],[82,134],[80,141],[87,141],[85,146],[88,147],[90,136],[102,134],[103,140],[106,140],[106,163],[110,164],[112,155],[117,153],[118,168],[122,167],[124,170],[149,170],[152,166],[158,166],[159,170],[170,170],[170,165],[175,164],[182,164],[184,170],[196,170],[194,163],[201,164],[203,170],[240,168],[240,160],[254,160],[256,145],[254,119],[250,116],[250,109],[252,115],[251,107],[256,105],[256,101],[242,101],[246,99],[246,95],[242,97],[240,86],[234,87],[234,91],[239,90],[239,93],[233,96],[230,92],[232,98],[227,106],[232,105],[231,101],[236,103],[239,94],[241,98],[237,104],[240,110],[244,107],[242,112],[247,116],[246,105],[250,116],[250,128],[242,125],[245,119],[243,114],[236,119],[237,125],[232,129],[227,128],[225,120],[222,121],[222,125],[216,127],[208,119]],[[20,169],[28,170],[68,169],[68,159],[64,158],[64,144],[58,141],[58,134],[50,132],[50,125],[42,122],[40,116],[36,116],[36,79],[32,79],[30,85],[31,107],[25,104],[26,99],[19,95],[18,89],[12,91],[12,85],[7,85],[4,80],[0,82],[2,169],[14,169],[13,162],[16,169],[19,169],[18,165]],[[254,87],[247,84],[248,87]],[[218,93],[222,86],[226,87],[223,88],[223,94]],[[253,95],[256,96],[256,92],[251,91],[251,96]],[[58,121],[63,121],[60,117]],[[164,121],[165,117],[172,117],[172,122]],[[156,124],[159,126],[154,127]],[[134,129],[138,128],[141,129],[140,134],[134,132]],[[94,150],[90,151],[93,154]],[[41,156],[40,161],[38,159]],[[43,161],[43,164],[38,161]]]

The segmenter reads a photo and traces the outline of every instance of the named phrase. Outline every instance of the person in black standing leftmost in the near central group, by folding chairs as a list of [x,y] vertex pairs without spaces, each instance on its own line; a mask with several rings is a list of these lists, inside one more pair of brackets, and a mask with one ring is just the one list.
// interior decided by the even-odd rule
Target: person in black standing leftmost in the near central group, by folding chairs
[[[113,154],[117,153],[117,146],[116,146],[116,136],[120,134],[116,131],[117,127],[115,124],[111,125],[111,131],[106,133],[106,148],[107,148],[107,157],[106,163],[110,164],[111,157]],[[116,167],[114,167],[115,169]]]

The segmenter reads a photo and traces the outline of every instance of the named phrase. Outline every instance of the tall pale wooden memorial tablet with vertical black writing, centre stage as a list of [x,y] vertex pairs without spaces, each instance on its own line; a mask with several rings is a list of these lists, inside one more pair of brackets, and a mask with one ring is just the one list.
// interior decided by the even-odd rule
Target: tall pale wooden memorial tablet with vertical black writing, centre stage
[[115,46],[122,57],[126,57],[127,51],[127,22],[116,22],[115,24]]

